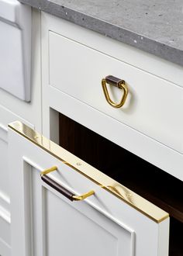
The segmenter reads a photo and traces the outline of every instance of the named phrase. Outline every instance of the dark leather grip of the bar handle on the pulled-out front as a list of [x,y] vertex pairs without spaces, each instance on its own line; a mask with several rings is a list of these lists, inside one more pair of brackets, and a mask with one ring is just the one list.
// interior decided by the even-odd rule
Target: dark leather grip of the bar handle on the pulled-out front
[[57,190],[57,192],[60,192],[60,194],[67,197],[67,199],[74,201],[74,198],[73,198],[74,194],[68,191],[67,189],[65,189],[62,185],[58,184],[47,175],[41,175],[41,179],[43,180],[43,182],[47,183],[47,185],[50,185],[50,187]]

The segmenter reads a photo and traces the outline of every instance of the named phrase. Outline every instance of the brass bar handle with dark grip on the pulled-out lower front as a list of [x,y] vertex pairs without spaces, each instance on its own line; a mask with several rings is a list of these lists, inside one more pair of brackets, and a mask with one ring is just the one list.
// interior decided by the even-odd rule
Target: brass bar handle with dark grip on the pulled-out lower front
[[88,196],[95,194],[95,192],[93,190],[91,190],[83,195],[74,195],[72,192],[68,191],[62,185],[58,184],[52,178],[47,176],[48,173],[50,173],[51,171],[56,171],[56,170],[57,170],[57,166],[53,166],[52,168],[41,171],[40,177],[43,180],[43,182],[46,182],[47,185],[50,185],[50,187],[57,190],[57,192],[60,192],[60,194],[67,197],[67,199],[69,199],[71,201],[81,201],[81,200],[86,199]]

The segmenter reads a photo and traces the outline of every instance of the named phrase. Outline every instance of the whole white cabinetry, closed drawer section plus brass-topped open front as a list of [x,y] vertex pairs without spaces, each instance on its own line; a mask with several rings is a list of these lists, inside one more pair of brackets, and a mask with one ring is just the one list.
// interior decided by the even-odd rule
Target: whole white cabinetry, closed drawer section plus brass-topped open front
[[[40,33],[40,12],[33,10],[33,17],[31,102],[0,93],[0,149],[4,154],[0,161],[5,179],[0,181],[4,193],[4,205],[0,198],[4,207],[2,213],[0,208],[0,255],[167,256],[167,213],[59,147],[59,115],[182,181],[182,67],[44,12]],[[101,80],[109,74],[123,78],[129,87],[126,105],[120,110],[112,109],[102,93]],[[133,83],[136,76],[141,79],[137,86]],[[157,100],[147,95],[148,88]],[[169,105],[171,93],[178,100]],[[120,96],[116,88],[114,97]],[[151,109],[153,103],[157,105]],[[16,119],[27,126],[10,125],[8,137],[7,123]],[[8,148],[9,174],[4,171]],[[57,171],[47,176],[68,192],[80,195],[94,190],[95,195],[82,202],[65,198],[40,178],[40,171],[53,166]],[[178,232],[174,234],[178,237]],[[1,244],[3,236],[6,247]]]

